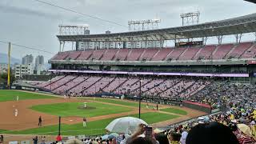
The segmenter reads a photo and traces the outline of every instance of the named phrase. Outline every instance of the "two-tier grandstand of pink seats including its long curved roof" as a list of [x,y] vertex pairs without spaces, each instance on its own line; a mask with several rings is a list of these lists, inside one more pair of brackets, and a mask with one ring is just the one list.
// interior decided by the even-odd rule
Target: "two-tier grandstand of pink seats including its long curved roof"
[[[49,71],[56,77],[33,84],[55,94],[126,98],[141,95],[165,103],[176,99],[174,103],[179,105],[218,80],[256,82],[256,43],[241,42],[242,35],[238,36],[254,34],[255,23],[256,14],[249,14],[158,30],[60,34],[57,37],[62,49],[49,60]],[[236,42],[222,43],[225,35],[235,35]],[[218,44],[208,45],[209,37],[218,38]],[[203,41],[191,41],[193,38]],[[175,46],[164,47],[168,40],[174,40]],[[65,42],[77,42],[75,50],[61,51]],[[89,42],[87,46],[93,44],[94,48],[81,48],[79,42]]]

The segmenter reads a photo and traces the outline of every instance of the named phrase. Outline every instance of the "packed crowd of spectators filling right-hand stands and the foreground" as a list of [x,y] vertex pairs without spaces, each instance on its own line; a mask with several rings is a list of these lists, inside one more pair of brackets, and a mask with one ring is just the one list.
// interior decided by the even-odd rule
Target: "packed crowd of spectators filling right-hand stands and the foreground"
[[211,82],[197,94],[187,100],[210,104],[221,113],[199,117],[194,121],[177,124],[151,138],[138,132],[128,136],[120,134],[118,138],[86,138],[75,140],[82,144],[114,143],[170,143],[170,144],[254,144],[256,143],[256,86],[232,83]]

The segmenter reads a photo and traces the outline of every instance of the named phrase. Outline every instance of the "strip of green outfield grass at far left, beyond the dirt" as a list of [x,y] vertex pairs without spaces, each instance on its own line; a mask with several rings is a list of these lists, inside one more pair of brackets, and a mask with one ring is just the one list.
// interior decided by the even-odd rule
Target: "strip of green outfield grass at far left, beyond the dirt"
[[19,100],[25,99],[42,99],[42,98],[55,98],[43,94],[26,93],[16,90],[0,90],[0,102],[14,101],[18,96]]

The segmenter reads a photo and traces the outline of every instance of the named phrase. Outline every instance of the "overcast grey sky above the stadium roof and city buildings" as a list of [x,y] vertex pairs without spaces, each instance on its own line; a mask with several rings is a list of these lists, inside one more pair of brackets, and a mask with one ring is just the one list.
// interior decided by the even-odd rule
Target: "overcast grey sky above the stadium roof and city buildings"
[[[252,14],[256,5],[243,0],[42,0],[58,6],[90,14],[127,25],[131,19],[161,18],[160,28],[181,26],[181,13],[200,10],[200,22],[211,22]],[[34,0],[0,0],[0,40],[58,52],[59,24],[88,24],[90,34],[127,31],[116,26],[79,14],[60,10]],[[6,53],[6,44],[0,42],[0,53]],[[12,54],[22,58],[26,54],[52,54],[26,50],[14,46]]]

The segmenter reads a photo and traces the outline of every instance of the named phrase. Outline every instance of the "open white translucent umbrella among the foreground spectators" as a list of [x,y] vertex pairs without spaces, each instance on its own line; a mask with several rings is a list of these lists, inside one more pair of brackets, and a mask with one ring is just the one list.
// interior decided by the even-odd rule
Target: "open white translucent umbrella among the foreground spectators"
[[110,122],[105,129],[112,133],[133,134],[138,130],[139,124],[148,125],[145,121],[139,118],[123,117],[114,119],[114,121]]

